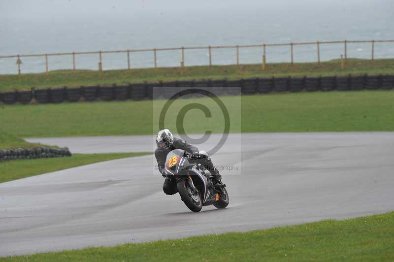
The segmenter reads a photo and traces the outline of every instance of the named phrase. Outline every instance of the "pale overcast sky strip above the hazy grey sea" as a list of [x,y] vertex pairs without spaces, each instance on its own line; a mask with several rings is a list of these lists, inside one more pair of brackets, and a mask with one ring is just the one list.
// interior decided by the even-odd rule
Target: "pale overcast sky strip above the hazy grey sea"
[[[393,0],[0,0],[0,16],[9,21],[58,15],[140,15],[197,13],[237,9],[310,9],[382,7],[394,13]],[[380,8],[377,8],[380,9]],[[362,14],[360,14],[362,15]],[[71,17],[69,17],[71,18]]]

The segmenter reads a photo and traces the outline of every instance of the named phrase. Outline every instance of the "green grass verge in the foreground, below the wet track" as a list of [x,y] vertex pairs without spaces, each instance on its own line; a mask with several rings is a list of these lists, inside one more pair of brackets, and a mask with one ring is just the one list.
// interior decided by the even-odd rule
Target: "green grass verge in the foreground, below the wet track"
[[[393,261],[394,212],[246,233],[86,248],[4,261]],[[0,259],[1,261],[1,259]]]

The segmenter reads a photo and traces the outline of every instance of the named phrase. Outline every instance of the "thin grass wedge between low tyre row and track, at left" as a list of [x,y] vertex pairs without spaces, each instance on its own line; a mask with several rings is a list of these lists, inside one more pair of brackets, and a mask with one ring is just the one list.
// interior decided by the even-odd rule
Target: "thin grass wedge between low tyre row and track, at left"
[[152,153],[73,154],[71,157],[25,159],[0,162],[0,183],[45,174],[75,166]]

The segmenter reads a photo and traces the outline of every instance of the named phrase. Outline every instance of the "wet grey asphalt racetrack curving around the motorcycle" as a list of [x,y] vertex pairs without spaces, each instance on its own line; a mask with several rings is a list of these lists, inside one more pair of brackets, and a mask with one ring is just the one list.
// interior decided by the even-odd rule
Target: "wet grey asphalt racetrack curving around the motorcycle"
[[[28,140],[68,145],[73,153],[87,153],[149,152],[151,139]],[[239,167],[223,171],[230,195],[230,205],[223,210],[207,206],[193,213],[178,194],[164,195],[153,155],[0,184],[0,256],[263,229],[394,210],[394,132],[244,133],[231,134],[229,141],[212,156],[216,165]]]

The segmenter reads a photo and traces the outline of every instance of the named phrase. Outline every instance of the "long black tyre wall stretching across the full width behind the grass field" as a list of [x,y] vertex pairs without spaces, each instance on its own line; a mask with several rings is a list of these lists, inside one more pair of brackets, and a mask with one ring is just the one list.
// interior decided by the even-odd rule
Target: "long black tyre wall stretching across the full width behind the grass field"
[[[171,89],[172,92],[155,94],[156,87]],[[191,80],[159,83],[136,83],[109,86],[81,86],[79,88],[47,88],[29,91],[0,93],[0,102],[4,104],[29,104],[35,99],[40,104],[78,101],[113,101],[169,98],[166,93],[181,91],[182,88],[202,88],[215,91],[216,95],[253,95],[270,92],[314,92],[314,91],[357,91],[357,90],[393,90],[394,75],[341,75],[311,77],[267,77],[219,80]],[[241,93],[239,92],[241,87]],[[193,97],[187,95],[185,98]]]

